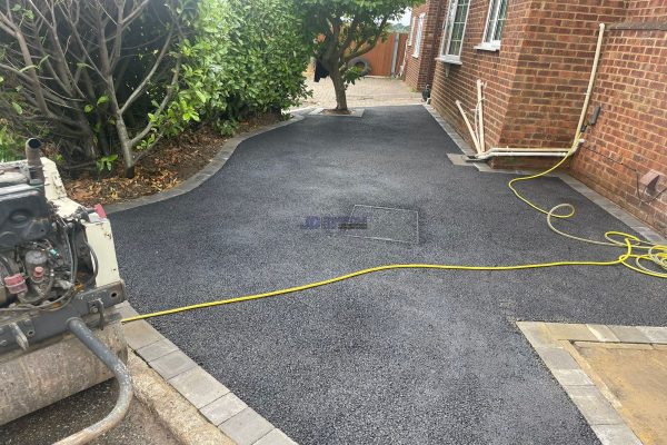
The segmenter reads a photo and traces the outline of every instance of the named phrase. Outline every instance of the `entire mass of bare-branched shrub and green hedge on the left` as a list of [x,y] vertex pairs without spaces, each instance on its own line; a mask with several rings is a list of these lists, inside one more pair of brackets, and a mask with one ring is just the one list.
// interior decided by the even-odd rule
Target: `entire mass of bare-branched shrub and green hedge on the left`
[[310,46],[295,1],[0,4],[0,149],[41,135],[69,167],[118,158],[131,176],[163,136],[297,103]]

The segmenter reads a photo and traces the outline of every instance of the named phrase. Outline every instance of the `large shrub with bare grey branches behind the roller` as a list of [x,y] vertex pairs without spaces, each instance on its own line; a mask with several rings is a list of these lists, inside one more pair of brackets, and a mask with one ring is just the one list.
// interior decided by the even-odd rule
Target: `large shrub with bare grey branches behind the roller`
[[[177,0],[13,0],[0,6],[0,111],[94,162],[118,146],[126,176],[179,80]],[[7,116],[7,115],[6,115]]]

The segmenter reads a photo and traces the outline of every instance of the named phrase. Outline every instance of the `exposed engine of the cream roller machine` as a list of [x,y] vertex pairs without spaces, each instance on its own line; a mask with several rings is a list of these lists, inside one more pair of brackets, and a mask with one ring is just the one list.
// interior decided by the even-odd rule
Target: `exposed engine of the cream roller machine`
[[81,209],[63,218],[20,166],[0,171],[0,308],[66,303],[94,279]]

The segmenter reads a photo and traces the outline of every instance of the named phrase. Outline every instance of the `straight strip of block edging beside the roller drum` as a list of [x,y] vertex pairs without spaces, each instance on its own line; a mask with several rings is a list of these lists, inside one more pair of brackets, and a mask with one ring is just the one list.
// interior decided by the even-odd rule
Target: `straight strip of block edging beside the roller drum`
[[[122,318],[137,312],[125,301]],[[130,349],[238,445],[297,445],[146,320],[123,325]]]

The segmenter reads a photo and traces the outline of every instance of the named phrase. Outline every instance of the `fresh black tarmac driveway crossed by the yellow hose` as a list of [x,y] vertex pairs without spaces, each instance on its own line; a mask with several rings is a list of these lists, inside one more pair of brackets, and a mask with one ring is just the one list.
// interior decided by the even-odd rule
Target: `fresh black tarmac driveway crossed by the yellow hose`
[[[198,189],[111,215],[140,313],[273,290],[394,263],[613,260],[565,239],[504,174],[456,167],[422,107],[307,116],[239,146]],[[560,227],[628,230],[559,179],[521,184]],[[419,212],[419,244],[303,229],[355,205]],[[392,227],[395,230],[396,227]],[[300,444],[595,444],[515,320],[665,325],[665,281],[624,267],[382,271],[152,319]]]

